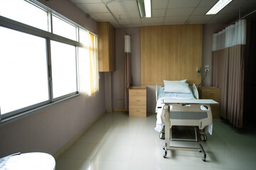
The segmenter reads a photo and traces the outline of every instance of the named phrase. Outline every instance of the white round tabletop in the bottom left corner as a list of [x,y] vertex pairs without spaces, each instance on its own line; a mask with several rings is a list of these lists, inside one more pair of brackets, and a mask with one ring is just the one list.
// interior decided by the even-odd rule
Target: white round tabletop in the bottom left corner
[[17,153],[0,159],[1,170],[55,170],[55,159],[42,152]]

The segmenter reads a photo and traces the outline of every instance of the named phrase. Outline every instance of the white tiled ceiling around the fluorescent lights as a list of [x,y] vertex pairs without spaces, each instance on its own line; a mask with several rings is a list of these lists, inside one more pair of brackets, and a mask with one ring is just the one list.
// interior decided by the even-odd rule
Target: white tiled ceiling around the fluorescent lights
[[[216,15],[206,16],[206,12],[218,0],[151,0],[152,18],[140,18],[136,0],[70,1],[95,21],[108,21],[114,28],[231,23],[238,20],[239,16],[245,16],[256,9],[256,0],[233,0]],[[109,3],[107,4],[107,2]],[[107,8],[110,9],[111,13]],[[255,18],[255,16],[254,13],[248,17]]]

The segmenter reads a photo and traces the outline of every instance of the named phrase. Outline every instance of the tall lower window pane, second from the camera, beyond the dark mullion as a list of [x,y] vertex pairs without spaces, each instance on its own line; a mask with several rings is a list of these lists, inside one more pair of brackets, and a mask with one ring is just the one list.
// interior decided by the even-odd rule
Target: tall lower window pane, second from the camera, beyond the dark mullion
[[53,98],[77,91],[75,46],[50,41]]

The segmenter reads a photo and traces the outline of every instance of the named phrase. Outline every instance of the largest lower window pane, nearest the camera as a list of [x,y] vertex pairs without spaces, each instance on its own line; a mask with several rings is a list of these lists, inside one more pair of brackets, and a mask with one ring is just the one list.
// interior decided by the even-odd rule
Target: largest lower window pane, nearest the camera
[[0,27],[1,114],[48,101],[46,39]]

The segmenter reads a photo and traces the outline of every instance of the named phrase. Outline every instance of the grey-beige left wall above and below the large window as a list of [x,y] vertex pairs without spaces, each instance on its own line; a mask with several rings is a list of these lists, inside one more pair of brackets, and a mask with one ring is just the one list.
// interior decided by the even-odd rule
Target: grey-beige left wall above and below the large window
[[[41,0],[44,2],[44,0]],[[48,1],[47,6],[96,33],[97,24],[69,0]],[[0,125],[0,157],[16,152],[55,154],[105,111],[105,75],[100,92],[80,95],[38,113]]]

